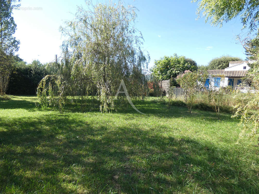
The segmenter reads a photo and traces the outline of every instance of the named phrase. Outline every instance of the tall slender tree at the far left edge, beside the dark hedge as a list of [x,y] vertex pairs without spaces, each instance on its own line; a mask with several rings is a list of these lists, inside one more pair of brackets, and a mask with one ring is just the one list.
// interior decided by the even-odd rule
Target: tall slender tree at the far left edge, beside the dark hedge
[[[15,63],[14,53],[18,50],[19,41],[13,37],[16,24],[12,17],[13,8],[19,6],[16,0],[0,0],[0,94],[8,88],[9,77]],[[18,0],[19,2],[19,0]]]

